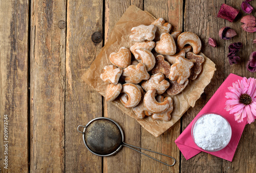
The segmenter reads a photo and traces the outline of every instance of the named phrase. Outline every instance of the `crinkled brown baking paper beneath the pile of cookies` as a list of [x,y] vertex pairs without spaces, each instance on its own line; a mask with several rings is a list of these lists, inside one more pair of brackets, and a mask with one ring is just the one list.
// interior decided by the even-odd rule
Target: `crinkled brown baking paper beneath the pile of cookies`
[[[129,40],[131,29],[139,25],[150,25],[156,18],[146,11],[142,11],[135,6],[130,6],[117,22],[110,34],[105,46],[101,49],[96,59],[92,62],[90,69],[83,74],[82,79],[86,81],[94,90],[105,96],[105,89],[108,84],[100,79],[100,74],[104,66],[110,65],[109,55],[112,52],[117,52],[121,47],[130,48],[133,43]],[[195,102],[204,91],[204,88],[209,84],[216,70],[215,63],[205,57],[201,74],[196,80],[190,80],[187,87],[178,95],[171,96],[174,101],[174,110],[172,118],[169,121],[153,120],[151,117],[137,119],[132,109],[127,109],[117,98],[112,101],[125,114],[137,119],[142,127],[150,132],[155,137],[164,133],[169,127],[174,125],[181,116],[189,109],[194,107]]]

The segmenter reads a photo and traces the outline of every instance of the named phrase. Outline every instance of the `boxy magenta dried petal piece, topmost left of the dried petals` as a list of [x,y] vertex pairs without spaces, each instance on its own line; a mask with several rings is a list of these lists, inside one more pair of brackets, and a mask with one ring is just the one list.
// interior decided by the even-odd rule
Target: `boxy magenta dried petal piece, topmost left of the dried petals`
[[218,17],[227,19],[228,21],[232,22],[234,20],[234,18],[237,17],[239,13],[239,10],[230,7],[226,4],[222,4],[220,11],[218,13]]

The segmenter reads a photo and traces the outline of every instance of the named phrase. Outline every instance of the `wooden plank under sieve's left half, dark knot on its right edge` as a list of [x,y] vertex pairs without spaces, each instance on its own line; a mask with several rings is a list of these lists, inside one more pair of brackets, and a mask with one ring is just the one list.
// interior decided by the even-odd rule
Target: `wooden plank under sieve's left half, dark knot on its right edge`
[[102,33],[102,1],[68,1],[66,53],[66,172],[101,172],[102,159],[93,155],[76,131],[102,117],[101,95],[91,89],[81,76],[102,47],[94,44],[92,34]]

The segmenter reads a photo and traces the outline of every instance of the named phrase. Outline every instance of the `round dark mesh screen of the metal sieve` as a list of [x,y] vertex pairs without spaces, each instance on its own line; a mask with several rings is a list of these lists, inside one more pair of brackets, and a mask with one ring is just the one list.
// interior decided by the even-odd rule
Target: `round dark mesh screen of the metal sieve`
[[84,139],[94,153],[109,155],[121,145],[122,134],[114,122],[98,119],[87,126]]

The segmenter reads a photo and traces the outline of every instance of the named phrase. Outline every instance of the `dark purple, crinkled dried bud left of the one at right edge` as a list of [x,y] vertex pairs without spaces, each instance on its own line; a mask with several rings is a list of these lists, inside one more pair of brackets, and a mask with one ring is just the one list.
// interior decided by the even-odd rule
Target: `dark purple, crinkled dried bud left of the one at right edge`
[[230,44],[228,47],[228,62],[230,65],[233,63],[238,63],[241,58],[237,56],[238,51],[242,48],[243,44],[242,42],[234,42],[233,44]]

